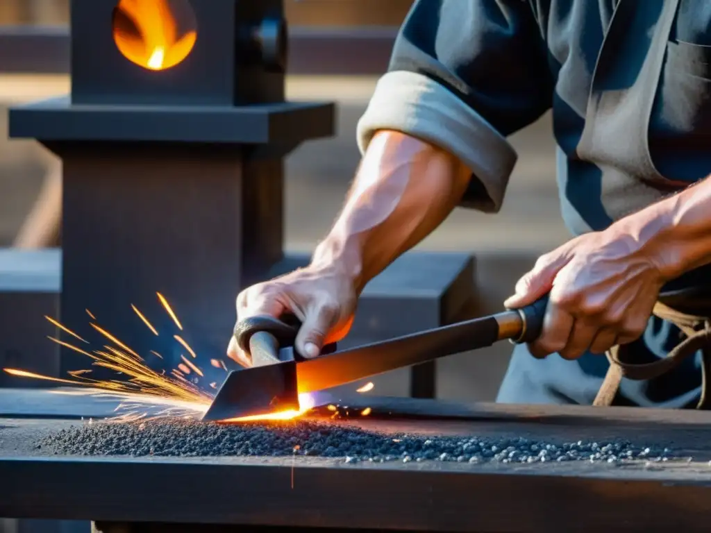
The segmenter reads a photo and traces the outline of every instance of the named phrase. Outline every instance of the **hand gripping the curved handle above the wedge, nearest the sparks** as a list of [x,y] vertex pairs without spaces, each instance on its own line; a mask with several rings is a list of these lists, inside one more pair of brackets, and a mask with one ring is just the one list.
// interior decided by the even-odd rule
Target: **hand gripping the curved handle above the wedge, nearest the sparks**
[[[356,300],[351,278],[336,267],[307,266],[242,291],[237,296],[237,321],[256,315],[294,315],[302,324],[296,350],[304,357],[317,357],[325,344],[348,334]],[[230,340],[227,354],[242,366],[252,365],[235,338]]]

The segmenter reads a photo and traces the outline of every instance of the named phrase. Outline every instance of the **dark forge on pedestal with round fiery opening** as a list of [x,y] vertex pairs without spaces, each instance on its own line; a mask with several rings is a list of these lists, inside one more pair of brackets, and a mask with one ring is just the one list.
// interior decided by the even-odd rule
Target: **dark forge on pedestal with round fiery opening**
[[[333,104],[284,98],[282,0],[73,0],[71,28],[71,94],[9,121],[63,162],[61,320],[147,352],[126,310],[159,292],[182,324],[156,330],[221,356],[235,296],[283,258],[284,156],[333,134]],[[62,348],[60,375],[82,367]]]

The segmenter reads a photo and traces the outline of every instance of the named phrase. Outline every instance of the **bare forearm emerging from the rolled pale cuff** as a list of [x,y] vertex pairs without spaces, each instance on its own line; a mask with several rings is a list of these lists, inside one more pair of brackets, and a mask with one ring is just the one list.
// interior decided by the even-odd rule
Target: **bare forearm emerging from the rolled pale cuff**
[[444,221],[470,177],[471,171],[442,149],[396,131],[378,132],[312,264],[342,269],[360,293]]

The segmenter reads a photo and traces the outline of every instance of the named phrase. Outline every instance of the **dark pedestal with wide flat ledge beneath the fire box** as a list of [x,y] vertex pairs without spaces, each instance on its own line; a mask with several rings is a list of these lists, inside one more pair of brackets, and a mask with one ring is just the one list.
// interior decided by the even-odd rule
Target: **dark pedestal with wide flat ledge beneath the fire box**
[[[92,322],[140,353],[156,350],[170,367],[186,353],[176,334],[198,353],[224,354],[235,296],[282,259],[282,158],[333,131],[332,104],[141,112],[56,99],[10,118],[11,136],[41,139],[63,160],[61,320],[100,341],[88,310]],[[62,359],[63,372],[86,367],[68,348]]]

